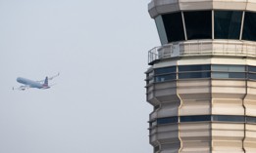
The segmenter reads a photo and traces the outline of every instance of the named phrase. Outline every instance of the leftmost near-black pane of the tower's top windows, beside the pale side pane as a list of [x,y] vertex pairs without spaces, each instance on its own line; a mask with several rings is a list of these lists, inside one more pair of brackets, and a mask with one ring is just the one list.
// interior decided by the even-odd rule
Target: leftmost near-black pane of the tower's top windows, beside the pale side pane
[[162,16],[168,42],[184,40],[184,30],[181,13],[174,13]]

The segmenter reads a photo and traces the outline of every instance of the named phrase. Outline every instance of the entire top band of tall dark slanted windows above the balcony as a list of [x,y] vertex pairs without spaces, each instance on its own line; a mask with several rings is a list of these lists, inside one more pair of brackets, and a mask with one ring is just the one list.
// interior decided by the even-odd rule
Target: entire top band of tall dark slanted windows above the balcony
[[193,39],[256,41],[256,13],[253,12],[178,12],[160,15],[155,22],[162,45]]

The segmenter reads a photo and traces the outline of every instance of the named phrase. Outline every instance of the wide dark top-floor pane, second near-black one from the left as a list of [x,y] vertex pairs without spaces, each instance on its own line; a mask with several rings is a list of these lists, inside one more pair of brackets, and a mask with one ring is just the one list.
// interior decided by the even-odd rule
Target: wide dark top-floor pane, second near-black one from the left
[[212,39],[212,11],[184,12],[187,39]]

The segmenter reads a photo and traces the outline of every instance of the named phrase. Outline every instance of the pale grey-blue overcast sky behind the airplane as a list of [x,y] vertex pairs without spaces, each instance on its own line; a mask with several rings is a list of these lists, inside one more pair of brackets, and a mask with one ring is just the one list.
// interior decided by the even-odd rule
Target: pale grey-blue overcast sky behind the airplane
[[[146,153],[149,0],[0,0],[0,152]],[[19,87],[60,72],[50,90]]]

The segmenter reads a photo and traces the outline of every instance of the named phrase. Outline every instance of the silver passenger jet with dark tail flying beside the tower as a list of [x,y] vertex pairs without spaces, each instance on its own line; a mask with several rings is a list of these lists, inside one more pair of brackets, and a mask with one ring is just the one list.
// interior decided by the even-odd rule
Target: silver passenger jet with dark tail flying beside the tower
[[21,86],[19,88],[14,88],[13,87],[13,90],[25,91],[29,88],[37,88],[37,89],[40,89],[40,90],[46,90],[46,89],[49,89],[53,86],[53,85],[49,86],[48,81],[58,77],[59,75],[60,75],[60,73],[58,73],[57,75],[52,76],[50,78],[48,78],[46,76],[44,80],[40,80],[40,81],[32,81],[32,80],[29,80],[29,79],[26,79],[26,78],[18,77],[17,82],[19,82],[21,84],[24,84],[24,86]]

